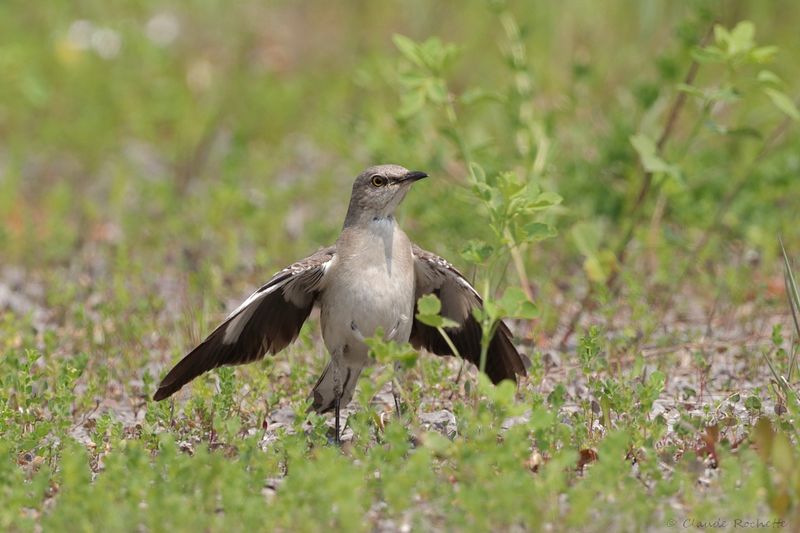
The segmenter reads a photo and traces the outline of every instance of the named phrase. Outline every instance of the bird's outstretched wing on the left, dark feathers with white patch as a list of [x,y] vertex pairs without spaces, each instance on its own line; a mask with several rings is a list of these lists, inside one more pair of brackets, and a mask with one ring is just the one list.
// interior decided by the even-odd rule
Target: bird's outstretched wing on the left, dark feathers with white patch
[[335,253],[333,246],[323,248],[275,274],[169,371],[153,399],[168,398],[218,366],[250,363],[285,348],[311,313]]

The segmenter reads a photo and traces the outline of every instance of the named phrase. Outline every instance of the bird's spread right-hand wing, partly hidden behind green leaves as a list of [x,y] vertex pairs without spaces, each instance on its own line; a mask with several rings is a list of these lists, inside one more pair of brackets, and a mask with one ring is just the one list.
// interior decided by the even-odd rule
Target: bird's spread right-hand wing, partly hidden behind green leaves
[[[442,316],[459,324],[458,327],[445,328],[447,335],[464,359],[479,366],[482,332],[481,325],[472,316],[472,309],[483,305],[478,291],[453,265],[438,255],[418,246],[414,246],[413,253],[415,298],[431,293],[439,297],[442,302]],[[416,309],[414,314],[416,316]],[[517,375],[527,374],[525,367],[529,364],[528,358],[517,351],[511,338],[508,326],[500,322],[489,343],[486,356],[486,374],[493,383],[504,379],[516,381]],[[453,355],[436,328],[427,326],[416,318],[411,329],[410,342],[415,348],[424,347],[437,355]]]

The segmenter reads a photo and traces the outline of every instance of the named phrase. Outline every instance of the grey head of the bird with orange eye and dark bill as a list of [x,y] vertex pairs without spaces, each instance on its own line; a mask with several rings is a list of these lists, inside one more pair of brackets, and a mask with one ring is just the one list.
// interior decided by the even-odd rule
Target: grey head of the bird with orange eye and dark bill
[[428,175],[400,165],[369,167],[353,182],[345,226],[392,216],[411,184]]

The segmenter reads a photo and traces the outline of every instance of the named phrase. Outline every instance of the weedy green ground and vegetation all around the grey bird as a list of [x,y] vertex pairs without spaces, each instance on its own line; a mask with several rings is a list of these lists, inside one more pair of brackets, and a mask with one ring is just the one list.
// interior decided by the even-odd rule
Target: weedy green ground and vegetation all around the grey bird
[[[1,3],[0,530],[797,523],[800,7],[779,11]],[[376,332],[337,448],[306,412],[312,315],[149,401],[380,162],[431,174],[403,227],[475,280],[480,366],[503,319],[530,377]],[[440,312],[416,318],[447,339]]]

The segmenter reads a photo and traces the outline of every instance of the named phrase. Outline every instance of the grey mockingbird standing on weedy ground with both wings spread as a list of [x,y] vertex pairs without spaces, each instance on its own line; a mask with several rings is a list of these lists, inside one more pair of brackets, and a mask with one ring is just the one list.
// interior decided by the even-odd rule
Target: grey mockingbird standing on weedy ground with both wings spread
[[[212,368],[279,352],[297,338],[315,304],[331,361],[314,386],[311,409],[335,411],[337,442],[340,408],[370,363],[365,337],[382,328],[387,341],[453,355],[436,328],[415,319],[420,296],[439,297],[442,316],[459,324],[446,330],[448,336],[462,357],[478,365],[482,333],[471,310],[482,305],[480,295],[453,265],[413,244],[394,218],[411,185],[425,177],[399,165],[362,172],[336,243],[275,274],[169,371],[153,399],[168,398]],[[501,322],[489,344],[486,374],[494,383],[516,381],[526,375],[526,361]]]

